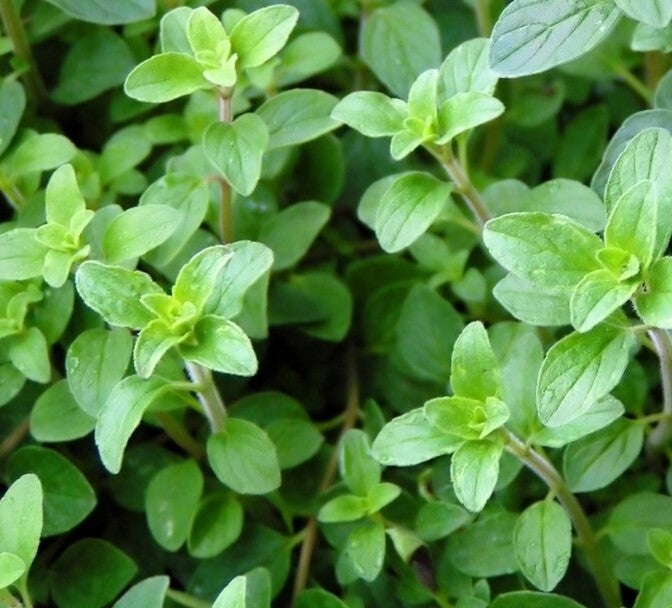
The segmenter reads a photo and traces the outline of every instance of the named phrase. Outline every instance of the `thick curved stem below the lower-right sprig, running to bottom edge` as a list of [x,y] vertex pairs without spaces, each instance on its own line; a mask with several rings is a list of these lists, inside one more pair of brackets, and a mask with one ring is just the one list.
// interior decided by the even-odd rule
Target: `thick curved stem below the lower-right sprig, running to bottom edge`
[[548,487],[555,493],[572,521],[576,535],[581,542],[586,560],[590,566],[593,578],[602,595],[607,608],[620,608],[621,597],[619,584],[612,572],[607,568],[595,533],[588,521],[588,517],[581,507],[581,503],[567,487],[565,480],[555,467],[539,452],[525,445],[516,435],[505,430],[506,449],[525,466],[534,471]]

